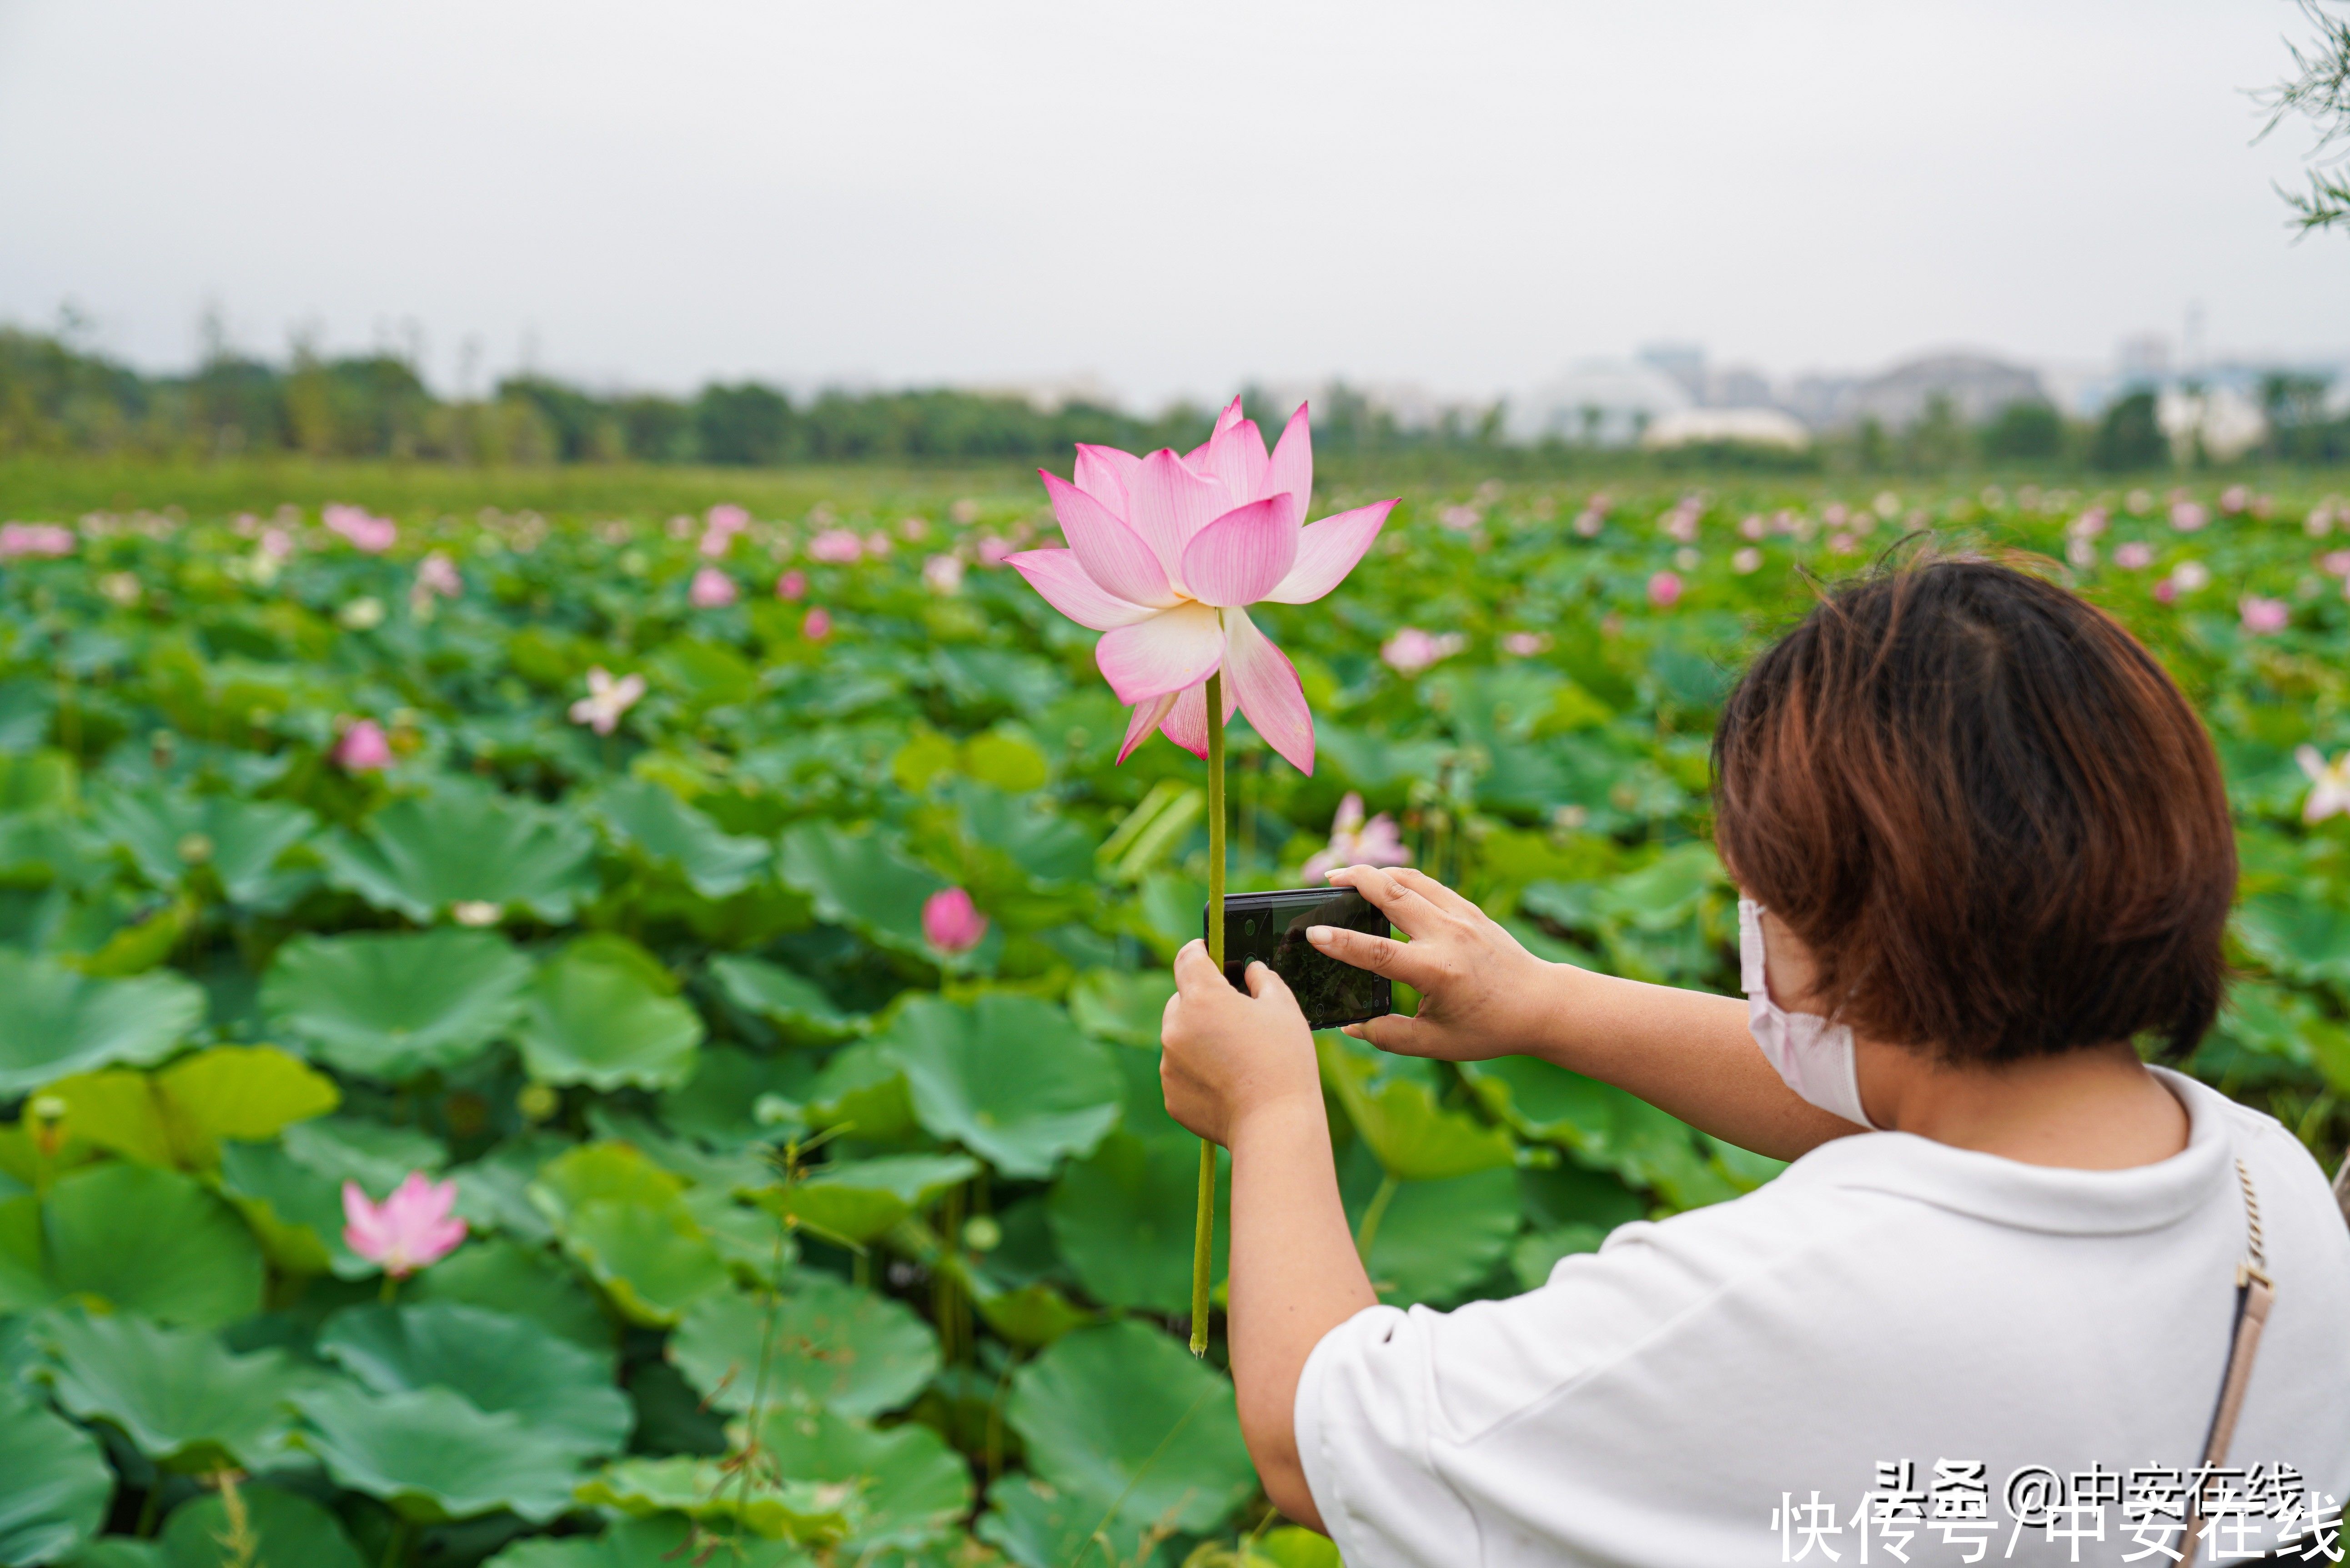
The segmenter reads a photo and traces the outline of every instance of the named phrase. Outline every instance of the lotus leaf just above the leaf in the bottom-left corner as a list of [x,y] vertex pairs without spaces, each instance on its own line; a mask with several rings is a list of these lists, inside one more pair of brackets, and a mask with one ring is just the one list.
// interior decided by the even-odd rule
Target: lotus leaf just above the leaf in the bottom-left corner
[[240,1356],[214,1333],[134,1312],[63,1314],[47,1338],[56,1403],[115,1427],[164,1469],[266,1469],[291,1425],[287,1401],[320,1382],[284,1352]]

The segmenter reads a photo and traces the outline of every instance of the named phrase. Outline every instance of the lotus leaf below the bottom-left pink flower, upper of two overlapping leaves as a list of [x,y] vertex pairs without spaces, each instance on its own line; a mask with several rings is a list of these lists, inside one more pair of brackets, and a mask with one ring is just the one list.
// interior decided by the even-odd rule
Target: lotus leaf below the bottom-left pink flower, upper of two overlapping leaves
[[320,1328],[317,1354],[378,1394],[456,1389],[583,1458],[627,1446],[632,1413],[613,1387],[611,1356],[505,1312],[461,1302],[343,1307]]

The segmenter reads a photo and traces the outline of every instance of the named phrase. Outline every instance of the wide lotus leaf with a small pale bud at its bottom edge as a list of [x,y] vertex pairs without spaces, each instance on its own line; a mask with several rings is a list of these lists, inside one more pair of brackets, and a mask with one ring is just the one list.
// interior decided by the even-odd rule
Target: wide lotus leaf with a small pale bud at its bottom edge
[[566,922],[597,886],[585,823],[472,788],[392,802],[364,835],[327,835],[317,853],[329,882],[418,924],[461,903]]

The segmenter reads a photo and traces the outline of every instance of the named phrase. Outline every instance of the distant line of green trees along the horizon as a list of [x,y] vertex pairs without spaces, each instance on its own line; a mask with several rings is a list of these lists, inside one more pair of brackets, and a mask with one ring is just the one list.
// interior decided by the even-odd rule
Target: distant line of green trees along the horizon
[[[1243,404],[1274,437],[1288,407],[1262,390]],[[2275,374],[2261,388],[2268,444],[2289,463],[2350,461],[2350,418],[2326,414],[2326,383]],[[1574,442],[1509,447],[1502,404],[1452,409],[1403,425],[1372,397],[1330,386],[1314,400],[1314,449],[1349,463],[1448,473],[1622,468],[1758,468],[1948,473],[2068,465],[2106,473],[2167,468],[2174,451],[2155,395],[2131,393],[2096,421],[2070,421],[2047,402],[2014,402],[1972,425],[1948,400],[1904,428],[1861,421],[1807,451],[1687,447],[1661,454]],[[35,331],[0,327],[0,456],[120,454],[233,458],[414,458],[439,463],[1065,463],[1074,442],[1128,451],[1194,447],[1208,409],[1156,416],[1067,402],[1039,407],[1015,393],[952,388],[790,397],[757,381],[712,381],[691,397],[592,393],[552,376],[508,376],[489,397],[435,397],[414,367],[388,353],[284,364],[214,350],[186,376],[148,376]]]

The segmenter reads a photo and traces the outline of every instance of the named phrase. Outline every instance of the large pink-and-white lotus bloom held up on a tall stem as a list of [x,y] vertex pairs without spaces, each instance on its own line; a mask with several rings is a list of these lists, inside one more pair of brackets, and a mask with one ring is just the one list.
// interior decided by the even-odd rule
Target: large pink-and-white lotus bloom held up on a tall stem
[[1267,745],[1311,773],[1314,715],[1297,670],[1248,607],[1309,604],[1337,588],[1396,503],[1307,524],[1307,409],[1267,454],[1238,397],[1208,442],[1182,456],[1079,447],[1076,482],[1048,473],[1043,487],[1069,548],[1006,559],[1053,609],[1102,632],[1093,661],[1135,710],[1119,762],[1154,729],[1206,757],[1208,677],[1222,670],[1222,717],[1238,708]]

